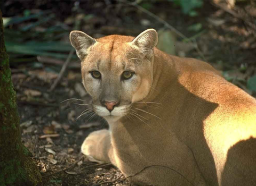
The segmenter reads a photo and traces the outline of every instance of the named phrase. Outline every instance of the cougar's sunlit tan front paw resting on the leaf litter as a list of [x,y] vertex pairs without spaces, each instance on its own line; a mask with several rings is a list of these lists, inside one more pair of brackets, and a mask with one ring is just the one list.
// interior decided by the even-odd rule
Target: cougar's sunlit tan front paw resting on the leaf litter
[[108,130],[94,131],[84,140],[81,151],[92,162],[111,162],[116,165]]

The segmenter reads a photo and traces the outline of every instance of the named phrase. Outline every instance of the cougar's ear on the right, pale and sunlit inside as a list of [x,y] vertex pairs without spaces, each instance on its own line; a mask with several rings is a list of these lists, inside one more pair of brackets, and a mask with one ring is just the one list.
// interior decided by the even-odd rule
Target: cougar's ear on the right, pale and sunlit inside
[[154,53],[153,49],[156,46],[157,41],[156,30],[148,29],[140,33],[140,35],[133,39],[131,43],[137,46],[147,58],[150,58]]

